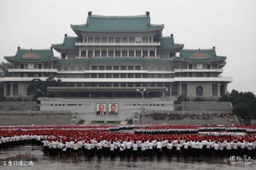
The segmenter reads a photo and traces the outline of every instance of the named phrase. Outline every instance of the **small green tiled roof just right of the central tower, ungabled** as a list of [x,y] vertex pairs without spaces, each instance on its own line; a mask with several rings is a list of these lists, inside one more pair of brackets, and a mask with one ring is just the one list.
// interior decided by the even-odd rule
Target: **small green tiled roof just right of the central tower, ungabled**
[[174,38],[171,37],[158,37],[154,38],[154,41],[160,42],[160,46],[163,49],[177,49],[177,48],[183,48],[183,44],[175,44]]

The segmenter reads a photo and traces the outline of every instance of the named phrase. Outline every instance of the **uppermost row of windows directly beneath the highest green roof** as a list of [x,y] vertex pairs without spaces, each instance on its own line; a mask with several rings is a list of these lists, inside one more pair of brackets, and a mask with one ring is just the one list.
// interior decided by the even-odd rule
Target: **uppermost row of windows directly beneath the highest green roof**
[[151,37],[84,37],[88,43],[148,43]]

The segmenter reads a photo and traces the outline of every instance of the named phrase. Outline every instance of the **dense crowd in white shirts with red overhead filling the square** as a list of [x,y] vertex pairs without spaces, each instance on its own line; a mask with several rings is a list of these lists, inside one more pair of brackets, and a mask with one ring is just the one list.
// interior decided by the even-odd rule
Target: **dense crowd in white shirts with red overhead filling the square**
[[[135,133],[118,131],[131,129]],[[17,145],[42,145],[45,154],[60,157],[85,155],[98,158],[137,157],[222,157],[230,155],[255,156],[256,134],[210,132],[191,134],[190,129],[225,128],[255,130],[255,126],[196,126],[196,125],[49,125],[1,126],[0,149]],[[141,129],[183,130],[183,133],[137,133]],[[231,129],[233,128],[233,129]],[[255,132],[255,131],[254,131]],[[215,135],[220,133],[222,135]]]

